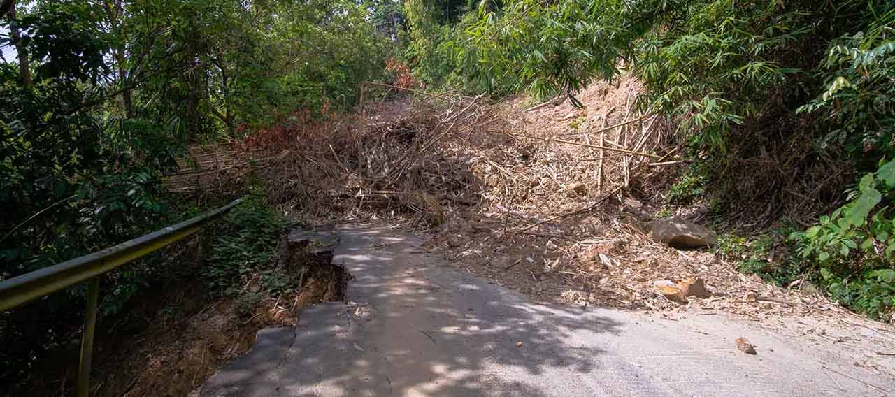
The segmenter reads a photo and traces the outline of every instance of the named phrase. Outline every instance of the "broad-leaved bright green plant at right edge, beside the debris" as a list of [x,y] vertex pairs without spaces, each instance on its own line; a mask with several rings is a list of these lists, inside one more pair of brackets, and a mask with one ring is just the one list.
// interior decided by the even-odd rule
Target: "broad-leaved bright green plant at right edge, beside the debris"
[[794,232],[801,258],[817,266],[835,300],[871,317],[895,308],[895,160],[866,173],[848,204]]

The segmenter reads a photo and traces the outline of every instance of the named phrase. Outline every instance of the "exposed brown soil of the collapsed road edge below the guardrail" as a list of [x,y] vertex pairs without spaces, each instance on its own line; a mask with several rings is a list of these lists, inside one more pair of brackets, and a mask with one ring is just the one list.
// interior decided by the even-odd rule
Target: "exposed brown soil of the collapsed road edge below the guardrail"
[[[188,395],[218,367],[251,349],[260,329],[295,325],[297,310],[344,300],[347,275],[331,264],[331,255],[288,258],[283,270],[304,274],[297,294],[271,297],[248,284],[237,297],[212,299],[203,283],[187,278],[146,291],[124,317],[100,321],[91,395]],[[79,342],[48,354],[33,371],[40,376],[9,395],[72,393]]]

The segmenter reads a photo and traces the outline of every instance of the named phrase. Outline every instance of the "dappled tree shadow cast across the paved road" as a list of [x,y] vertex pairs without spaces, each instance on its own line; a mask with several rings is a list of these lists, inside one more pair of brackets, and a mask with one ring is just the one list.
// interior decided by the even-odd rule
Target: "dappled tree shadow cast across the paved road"
[[574,375],[600,369],[603,351],[579,342],[581,330],[619,332],[609,318],[536,305],[442,266],[415,237],[340,235],[334,261],[354,275],[348,301],[306,309],[295,329],[263,331],[202,395],[545,395],[571,386],[551,380],[584,382]]

